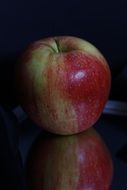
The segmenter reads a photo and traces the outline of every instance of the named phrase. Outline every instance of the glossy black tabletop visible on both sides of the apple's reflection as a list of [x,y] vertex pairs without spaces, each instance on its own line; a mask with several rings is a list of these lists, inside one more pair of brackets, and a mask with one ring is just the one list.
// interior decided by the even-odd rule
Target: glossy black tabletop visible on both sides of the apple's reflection
[[[25,163],[31,145],[42,131],[29,120],[24,121],[21,126],[19,146]],[[94,127],[108,146],[113,159],[114,174],[110,190],[126,190],[127,156],[125,148],[121,148],[127,144],[127,118],[102,115]]]

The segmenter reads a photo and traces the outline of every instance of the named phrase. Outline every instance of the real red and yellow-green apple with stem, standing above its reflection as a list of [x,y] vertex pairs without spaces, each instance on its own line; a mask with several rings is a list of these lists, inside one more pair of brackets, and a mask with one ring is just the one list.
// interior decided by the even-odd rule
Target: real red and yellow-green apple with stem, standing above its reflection
[[111,72],[89,42],[71,36],[32,43],[17,65],[20,103],[31,120],[56,134],[93,126],[109,97]]

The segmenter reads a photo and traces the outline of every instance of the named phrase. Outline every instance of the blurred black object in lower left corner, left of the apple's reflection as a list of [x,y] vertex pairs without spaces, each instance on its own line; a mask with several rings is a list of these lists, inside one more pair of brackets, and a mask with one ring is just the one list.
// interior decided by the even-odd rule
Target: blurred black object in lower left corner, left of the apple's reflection
[[16,128],[16,118],[0,106],[0,189],[26,189]]

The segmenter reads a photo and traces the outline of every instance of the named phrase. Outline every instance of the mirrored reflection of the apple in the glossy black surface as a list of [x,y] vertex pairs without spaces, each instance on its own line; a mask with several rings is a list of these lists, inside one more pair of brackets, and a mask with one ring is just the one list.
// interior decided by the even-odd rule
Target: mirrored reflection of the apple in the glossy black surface
[[41,136],[26,162],[30,190],[109,190],[112,177],[109,150],[93,127],[70,136]]

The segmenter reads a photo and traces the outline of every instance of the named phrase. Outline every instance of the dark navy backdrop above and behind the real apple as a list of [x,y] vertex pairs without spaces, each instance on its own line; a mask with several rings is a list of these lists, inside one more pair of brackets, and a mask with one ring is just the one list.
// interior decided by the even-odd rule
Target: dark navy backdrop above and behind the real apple
[[7,107],[18,103],[13,72],[24,48],[54,35],[78,36],[100,49],[112,71],[110,97],[127,100],[126,7],[126,0],[0,1],[0,102]]

